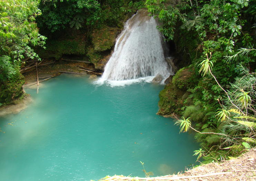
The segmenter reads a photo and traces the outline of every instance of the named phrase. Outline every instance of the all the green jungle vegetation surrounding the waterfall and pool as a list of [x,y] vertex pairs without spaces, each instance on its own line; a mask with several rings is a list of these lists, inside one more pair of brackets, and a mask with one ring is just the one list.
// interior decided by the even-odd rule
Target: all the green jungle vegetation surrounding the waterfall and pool
[[197,132],[195,155],[205,162],[254,147],[254,0],[2,0],[0,105],[22,94],[24,60],[40,60],[43,49],[51,49],[56,59],[83,54],[97,63],[112,46],[97,45],[97,32],[119,31],[143,7],[159,19],[158,29],[187,65],[160,93],[162,114],[181,115],[181,131]]

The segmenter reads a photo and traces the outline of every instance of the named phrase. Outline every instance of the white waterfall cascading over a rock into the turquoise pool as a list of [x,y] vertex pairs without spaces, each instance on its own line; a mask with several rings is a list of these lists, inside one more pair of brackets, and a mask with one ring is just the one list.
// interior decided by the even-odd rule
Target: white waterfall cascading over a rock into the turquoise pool
[[125,24],[117,38],[114,53],[99,80],[104,82],[136,80],[160,75],[163,81],[171,74],[165,61],[163,38],[157,23],[145,9],[139,10]]

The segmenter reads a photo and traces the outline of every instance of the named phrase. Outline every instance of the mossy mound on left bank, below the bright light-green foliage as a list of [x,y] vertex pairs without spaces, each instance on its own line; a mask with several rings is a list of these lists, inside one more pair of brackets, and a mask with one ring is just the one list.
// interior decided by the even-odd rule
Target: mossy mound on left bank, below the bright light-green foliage
[[20,73],[17,73],[17,76],[11,81],[0,82],[0,103],[14,103],[14,100],[23,94],[24,82],[24,76]]

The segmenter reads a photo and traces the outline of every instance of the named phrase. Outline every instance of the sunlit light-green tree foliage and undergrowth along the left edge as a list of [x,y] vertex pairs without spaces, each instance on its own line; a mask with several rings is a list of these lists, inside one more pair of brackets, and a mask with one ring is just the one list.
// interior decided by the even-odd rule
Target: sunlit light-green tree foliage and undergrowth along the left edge
[[11,103],[22,94],[19,69],[25,57],[40,60],[31,47],[45,44],[35,18],[41,14],[37,0],[0,1],[0,102]]

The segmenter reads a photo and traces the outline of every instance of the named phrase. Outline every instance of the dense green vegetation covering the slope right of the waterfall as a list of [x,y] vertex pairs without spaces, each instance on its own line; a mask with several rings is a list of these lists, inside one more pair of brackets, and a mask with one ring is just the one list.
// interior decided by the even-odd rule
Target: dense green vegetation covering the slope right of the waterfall
[[[147,0],[146,6],[190,61],[160,93],[162,113],[181,115],[180,131],[196,132],[195,155],[205,163],[255,147],[256,1]],[[185,71],[192,73],[183,80]],[[164,105],[179,99],[171,91],[185,91],[175,109]]]

